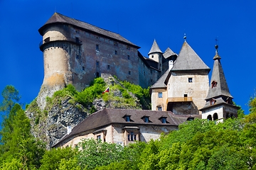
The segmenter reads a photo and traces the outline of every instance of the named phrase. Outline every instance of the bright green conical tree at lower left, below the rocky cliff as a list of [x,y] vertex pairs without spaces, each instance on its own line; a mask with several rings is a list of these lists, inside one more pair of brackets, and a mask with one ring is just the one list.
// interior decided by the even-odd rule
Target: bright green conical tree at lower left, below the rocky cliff
[[23,169],[40,166],[44,145],[31,135],[30,120],[20,105],[14,105],[3,125],[0,163],[7,165],[17,159],[23,164]]

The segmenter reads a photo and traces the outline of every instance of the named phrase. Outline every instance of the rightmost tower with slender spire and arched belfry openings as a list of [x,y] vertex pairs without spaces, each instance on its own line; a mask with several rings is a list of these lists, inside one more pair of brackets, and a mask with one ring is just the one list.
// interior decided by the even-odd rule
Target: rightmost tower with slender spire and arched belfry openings
[[201,108],[202,118],[208,120],[223,120],[223,118],[237,117],[239,107],[233,104],[233,96],[228,89],[223,67],[218,55],[218,45],[215,45],[213,57],[213,72],[210,79],[210,87],[206,96],[206,105]]

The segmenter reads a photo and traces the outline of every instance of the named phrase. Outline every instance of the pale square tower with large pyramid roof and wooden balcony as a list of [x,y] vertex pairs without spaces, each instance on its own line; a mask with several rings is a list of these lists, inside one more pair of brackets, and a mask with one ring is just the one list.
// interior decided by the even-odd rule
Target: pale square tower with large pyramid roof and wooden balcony
[[199,114],[208,93],[210,68],[183,42],[174,66],[151,86],[152,110],[175,114]]

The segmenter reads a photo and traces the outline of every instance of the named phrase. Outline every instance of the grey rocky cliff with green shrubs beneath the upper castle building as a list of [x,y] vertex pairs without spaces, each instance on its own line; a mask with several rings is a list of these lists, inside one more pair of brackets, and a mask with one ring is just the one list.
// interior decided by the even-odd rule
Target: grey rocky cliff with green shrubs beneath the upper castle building
[[[68,133],[68,128],[72,129],[95,111],[103,108],[150,109],[149,98],[147,102],[138,98],[122,82],[109,74],[103,74],[102,78],[105,82],[104,89],[109,86],[110,92],[99,94],[87,105],[79,102],[72,93],[57,91],[55,94],[61,95],[55,95],[54,89],[48,90],[44,87],[38,95],[40,100],[36,98],[26,109],[26,114],[31,119],[33,135],[46,142],[50,148]],[[44,91],[52,92],[47,95]]]

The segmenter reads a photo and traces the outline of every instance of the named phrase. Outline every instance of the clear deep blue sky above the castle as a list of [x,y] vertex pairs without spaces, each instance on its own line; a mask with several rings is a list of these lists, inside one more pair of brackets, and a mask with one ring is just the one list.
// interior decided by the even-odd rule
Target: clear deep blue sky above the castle
[[0,91],[11,84],[22,103],[36,98],[43,82],[38,28],[58,12],[119,33],[144,56],[154,39],[162,52],[170,47],[178,53],[186,33],[188,44],[211,69],[218,37],[230,94],[249,113],[256,86],[255,9],[252,0],[0,0]]

